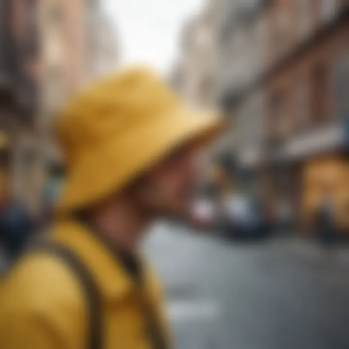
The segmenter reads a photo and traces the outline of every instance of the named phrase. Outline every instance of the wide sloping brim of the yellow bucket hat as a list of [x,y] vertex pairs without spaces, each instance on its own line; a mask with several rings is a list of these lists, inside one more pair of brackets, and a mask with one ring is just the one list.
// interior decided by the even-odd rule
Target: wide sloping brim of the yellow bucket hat
[[93,206],[151,168],[179,144],[206,145],[222,127],[222,118],[216,112],[180,108],[96,146],[68,169],[58,212]]

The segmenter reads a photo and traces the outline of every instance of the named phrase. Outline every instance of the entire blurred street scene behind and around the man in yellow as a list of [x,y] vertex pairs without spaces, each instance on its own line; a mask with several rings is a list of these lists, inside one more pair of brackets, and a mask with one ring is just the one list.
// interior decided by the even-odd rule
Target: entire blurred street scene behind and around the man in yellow
[[129,63],[226,118],[144,248],[179,349],[349,348],[348,0],[0,0],[0,264],[50,220],[57,112]]

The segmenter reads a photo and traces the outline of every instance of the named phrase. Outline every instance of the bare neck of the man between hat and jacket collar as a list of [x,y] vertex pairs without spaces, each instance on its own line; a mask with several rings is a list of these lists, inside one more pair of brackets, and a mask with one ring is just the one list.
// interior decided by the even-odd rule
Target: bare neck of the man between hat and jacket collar
[[112,247],[126,254],[137,250],[150,221],[137,206],[125,199],[113,199],[99,206],[92,213],[91,220]]

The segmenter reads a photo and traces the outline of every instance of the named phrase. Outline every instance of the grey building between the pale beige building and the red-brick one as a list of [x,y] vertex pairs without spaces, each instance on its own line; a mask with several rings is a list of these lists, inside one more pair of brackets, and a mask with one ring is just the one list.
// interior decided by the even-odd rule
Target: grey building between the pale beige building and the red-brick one
[[268,1],[221,0],[218,25],[218,91],[229,120],[221,151],[234,164],[238,190],[256,194],[262,153],[264,91],[250,91],[264,69],[263,12]]

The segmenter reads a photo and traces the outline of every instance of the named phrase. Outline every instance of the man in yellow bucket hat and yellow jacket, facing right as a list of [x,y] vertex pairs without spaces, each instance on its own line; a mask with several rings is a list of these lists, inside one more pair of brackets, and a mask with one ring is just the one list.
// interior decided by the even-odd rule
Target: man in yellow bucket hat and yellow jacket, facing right
[[58,123],[67,176],[51,248],[28,254],[1,286],[1,348],[169,347],[158,282],[137,246],[156,217],[186,215],[198,147],[219,128],[142,68],[71,101]]

